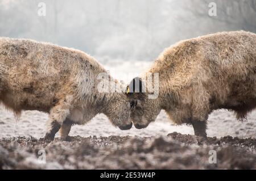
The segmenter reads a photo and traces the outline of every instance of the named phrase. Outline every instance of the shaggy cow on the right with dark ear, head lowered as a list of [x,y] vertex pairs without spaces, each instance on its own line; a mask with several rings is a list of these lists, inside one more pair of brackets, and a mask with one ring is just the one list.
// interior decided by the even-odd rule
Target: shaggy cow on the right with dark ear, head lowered
[[195,135],[205,138],[213,110],[233,110],[238,120],[246,120],[256,107],[256,35],[220,32],[180,41],[164,50],[147,73],[159,74],[159,95],[148,98],[147,74],[131,81],[127,95],[135,127],[147,127],[165,110],[174,123],[192,124]]

